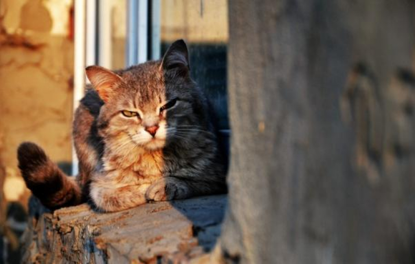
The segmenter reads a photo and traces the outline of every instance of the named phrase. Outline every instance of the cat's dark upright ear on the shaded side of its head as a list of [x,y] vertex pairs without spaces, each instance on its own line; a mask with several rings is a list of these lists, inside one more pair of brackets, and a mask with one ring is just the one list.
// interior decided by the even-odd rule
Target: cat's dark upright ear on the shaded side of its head
[[163,57],[160,68],[166,71],[176,69],[179,73],[188,73],[190,70],[187,45],[183,39],[173,42]]

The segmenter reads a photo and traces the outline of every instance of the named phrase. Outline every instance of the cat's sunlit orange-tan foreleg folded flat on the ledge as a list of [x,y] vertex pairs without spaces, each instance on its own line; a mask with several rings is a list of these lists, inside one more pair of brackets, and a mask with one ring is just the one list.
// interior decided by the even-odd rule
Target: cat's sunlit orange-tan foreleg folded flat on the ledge
[[106,212],[121,211],[145,204],[145,190],[148,184],[117,186],[102,186],[91,183],[90,195],[98,209]]

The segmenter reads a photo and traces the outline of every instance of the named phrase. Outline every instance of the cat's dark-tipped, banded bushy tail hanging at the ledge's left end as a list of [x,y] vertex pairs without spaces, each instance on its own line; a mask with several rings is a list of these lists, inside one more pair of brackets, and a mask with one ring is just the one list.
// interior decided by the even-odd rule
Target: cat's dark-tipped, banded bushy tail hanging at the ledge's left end
[[53,210],[81,203],[81,189],[74,177],[67,177],[38,145],[21,143],[17,157],[27,188],[44,206]]

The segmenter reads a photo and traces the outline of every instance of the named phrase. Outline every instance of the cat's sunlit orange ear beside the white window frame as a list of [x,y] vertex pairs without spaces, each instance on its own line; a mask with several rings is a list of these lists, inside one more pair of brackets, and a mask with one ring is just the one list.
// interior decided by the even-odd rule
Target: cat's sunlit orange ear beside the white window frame
[[100,95],[104,102],[107,102],[111,97],[114,85],[117,82],[122,82],[120,75],[111,72],[101,66],[88,66],[85,69],[86,76]]

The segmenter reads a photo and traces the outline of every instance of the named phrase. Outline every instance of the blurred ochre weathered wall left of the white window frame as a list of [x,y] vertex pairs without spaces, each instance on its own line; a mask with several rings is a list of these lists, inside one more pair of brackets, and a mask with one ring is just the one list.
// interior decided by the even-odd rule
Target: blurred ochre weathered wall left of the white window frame
[[[0,0],[0,199],[4,205],[0,235],[6,234],[7,243],[24,228],[21,213],[30,195],[17,169],[17,146],[34,141],[54,161],[71,161],[71,4],[71,0]],[[11,208],[7,224],[3,199]],[[10,262],[18,257],[13,250],[8,252]]]

